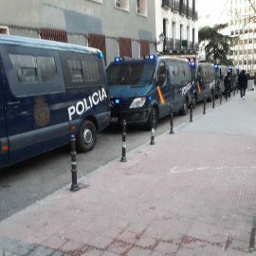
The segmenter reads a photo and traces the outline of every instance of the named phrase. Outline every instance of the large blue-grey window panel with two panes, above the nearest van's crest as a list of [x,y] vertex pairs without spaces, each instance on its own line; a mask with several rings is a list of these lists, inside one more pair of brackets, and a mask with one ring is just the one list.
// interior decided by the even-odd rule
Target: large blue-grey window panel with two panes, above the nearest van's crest
[[[11,93],[16,97],[64,92],[63,71],[57,50],[4,46],[1,52]],[[55,75],[54,75],[55,74]]]

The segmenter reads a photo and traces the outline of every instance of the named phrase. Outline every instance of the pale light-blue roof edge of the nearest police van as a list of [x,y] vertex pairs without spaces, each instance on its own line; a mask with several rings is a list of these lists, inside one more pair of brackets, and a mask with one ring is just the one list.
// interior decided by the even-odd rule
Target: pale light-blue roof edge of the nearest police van
[[29,46],[34,48],[47,48],[55,50],[64,50],[64,51],[75,51],[82,53],[101,53],[101,50],[86,47],[86,46],[77,46],[67,43],[61,43],[56,41],[49,41],[44,39],[35,39],[29,37],[21,36],[12,36],[6,34],[0,34],[0,45],[11,45],[11,46]]

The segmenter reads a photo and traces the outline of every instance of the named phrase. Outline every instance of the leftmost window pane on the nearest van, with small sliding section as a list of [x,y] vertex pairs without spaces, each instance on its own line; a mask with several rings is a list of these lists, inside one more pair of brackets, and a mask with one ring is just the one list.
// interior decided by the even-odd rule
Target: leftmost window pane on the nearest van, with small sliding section
[[37,64],[33,55],[9,54],[19,82],[38,82]]

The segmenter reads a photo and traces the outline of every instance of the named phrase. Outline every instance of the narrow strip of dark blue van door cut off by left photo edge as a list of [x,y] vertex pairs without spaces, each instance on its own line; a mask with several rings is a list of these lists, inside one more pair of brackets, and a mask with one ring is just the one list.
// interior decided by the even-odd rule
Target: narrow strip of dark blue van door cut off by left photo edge
[[2,93],[4,82],[6,82],[6,77],[0,53],[0,167],[7,165],[9,160],[9,143],[7,137],[6,116]]

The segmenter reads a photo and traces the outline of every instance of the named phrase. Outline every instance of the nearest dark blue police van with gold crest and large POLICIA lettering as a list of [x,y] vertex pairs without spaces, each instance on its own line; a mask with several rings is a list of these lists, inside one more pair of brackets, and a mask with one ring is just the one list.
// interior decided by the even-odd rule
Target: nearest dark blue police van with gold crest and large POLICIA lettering
[[0,35],[0,167],[69,143],[93,149],[109,124],[100,50]]

